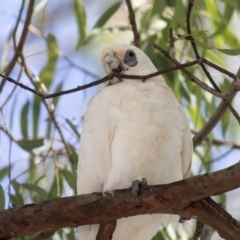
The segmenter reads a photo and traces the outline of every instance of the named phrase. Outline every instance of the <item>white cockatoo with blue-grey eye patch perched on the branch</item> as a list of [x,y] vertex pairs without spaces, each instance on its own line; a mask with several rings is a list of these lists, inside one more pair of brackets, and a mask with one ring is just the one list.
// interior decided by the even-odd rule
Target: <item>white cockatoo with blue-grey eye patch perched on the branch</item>
[[[140,49],[104,48],[108,74],[146,75],[157,69]],[[78,194],[129,188],[134,180],[166,184],[189,176],[192,140],[182,106],[161,76],[110,80],[89,102],[81,134]],[[113,240],[150,240],[170,215],[117,220]],[[79,240],[95,240],[99,225],[79,227]]]

